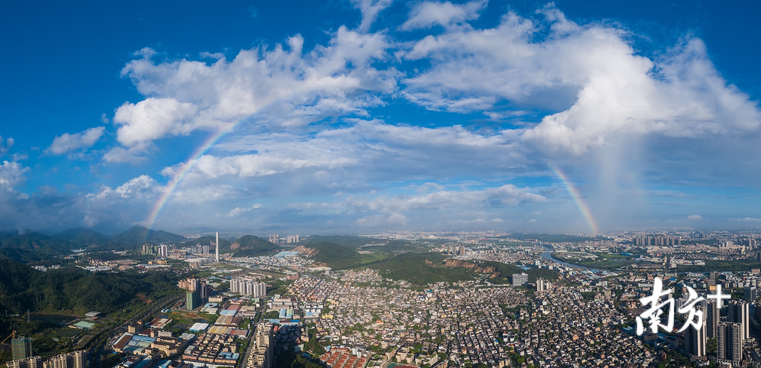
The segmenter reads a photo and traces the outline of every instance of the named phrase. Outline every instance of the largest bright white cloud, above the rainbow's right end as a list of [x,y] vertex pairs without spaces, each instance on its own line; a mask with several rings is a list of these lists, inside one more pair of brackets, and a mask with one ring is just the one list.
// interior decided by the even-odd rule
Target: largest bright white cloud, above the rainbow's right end
[[[453,112],[494,109],[504,100],[559,108],[522,139],[577,154],[616,133],[706,137],[759,126],[756,103],[721,78],[701,40],[688,38],[651,60],[635,55],[623,30],[575,24],[552,6],[541,12],[546,23],[508,13],[492,29],[426,36],[405,58],[433,66],[406,79],[403,94]],[[537,36],[547,25],[549,35]]]

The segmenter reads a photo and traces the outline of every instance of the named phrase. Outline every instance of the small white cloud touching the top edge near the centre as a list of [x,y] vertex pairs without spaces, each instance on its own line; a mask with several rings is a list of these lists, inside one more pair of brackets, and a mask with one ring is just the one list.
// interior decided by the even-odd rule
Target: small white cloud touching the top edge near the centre
[[486,8],[487,4],[487,0],[473,0],[465,4],[419,2],[412,5],[409,17],[400,29],[415,30],[435,25],[452,27],[464,21],[473,21],[478,19],[480,12]]

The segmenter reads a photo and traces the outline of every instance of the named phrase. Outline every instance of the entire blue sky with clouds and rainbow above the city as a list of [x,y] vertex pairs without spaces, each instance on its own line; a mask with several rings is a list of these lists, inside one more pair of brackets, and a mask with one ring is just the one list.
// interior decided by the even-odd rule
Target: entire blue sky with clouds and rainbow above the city
[[761,223],[753,2],[0,6],[5,229]]

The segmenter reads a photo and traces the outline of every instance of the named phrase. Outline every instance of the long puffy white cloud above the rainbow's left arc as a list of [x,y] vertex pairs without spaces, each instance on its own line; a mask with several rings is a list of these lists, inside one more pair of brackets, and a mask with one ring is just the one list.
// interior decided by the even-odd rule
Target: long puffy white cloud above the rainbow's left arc
[[[377,4],[376,4],[377,5]],[[117,139],[134,147],[158,138],[195,130],[231,128],[242,119],[270,127],[298,128],[330,116],[365,116],[368,106],[382,103],[399,73],[378,70],[390,47],[382,33],[358,33],[339,27],[327,46],[304,52],[304,39],[292,36],[288,48],[260,46],[241,50],[228,62],[211,65],[193,60],[155,63],[152,50],[127,63],[129,77],[141,94],[139,103],[116,110]]]

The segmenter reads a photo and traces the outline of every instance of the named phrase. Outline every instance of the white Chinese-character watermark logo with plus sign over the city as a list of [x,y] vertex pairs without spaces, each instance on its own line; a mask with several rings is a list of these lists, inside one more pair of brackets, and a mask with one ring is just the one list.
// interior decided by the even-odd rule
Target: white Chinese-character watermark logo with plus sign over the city
[[[642,312],[637,317],[637,335],[642,335],[645,332],[645,326],[642,325],[643,319],[650,319],[650,330],[655,334],[658,333],[658,328],[663,328],[666,332],[672,332],[673,331],[673,309],[676,303],[674,302],[673,298],[671,297],[671,293],[673,293],[673,289],[663,290],[663,281],[661,278],[655,278],[653,281],[653,294],[650,297],[644,297],[640,298],[640,303],[642,303],[643,306],[649,305],[649,309],[645,310],[645,312]],[[661,300],[661,297],[668,296],[668,299],[664,301],[663,303],[659,303]],[[721,300],[722,299],[730,299],[731,297],[729,295],[723,295],[721,294],[721,285],[716,285],[716,293],[714,295],[708,295],[708,299],[715,299],[716,300],[716,306],[721,306]],[[693,328],[696,328],[696,330],[700,330],[703,326],[703,313],[695,309],[695,304],[700,302],[701,300],[705,300],[704,297],[698,297],[698,293],[693,290],[692,287],[687,287],[687,303],[684,304],[681,308],[679,308],[677,311],[680,312],[680,314],[686,314],[686,322],[682,326],[682,328],[679,329],[679,332],[683,332],[687,329],[690,325],[693,326]],[[663,314],[663,308],[668,308],[668,318],[666,325],[661,323],[661,314]]]

